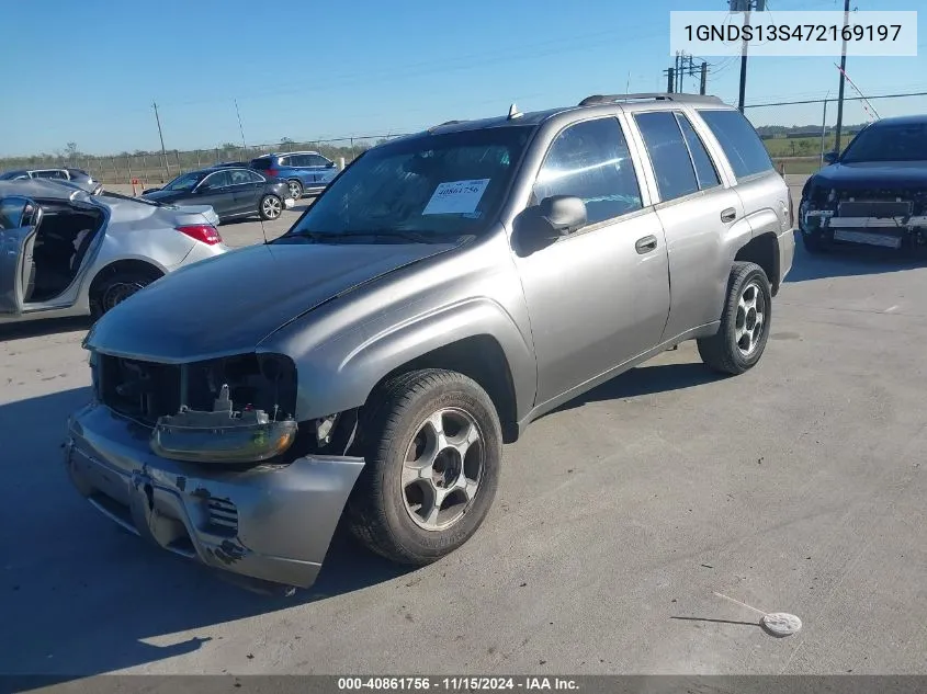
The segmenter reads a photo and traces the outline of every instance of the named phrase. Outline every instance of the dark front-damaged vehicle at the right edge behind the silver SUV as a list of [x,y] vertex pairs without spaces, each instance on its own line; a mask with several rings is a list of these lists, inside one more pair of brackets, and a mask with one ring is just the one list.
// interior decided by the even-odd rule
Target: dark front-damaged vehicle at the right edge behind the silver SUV
[[927,250],[927,115],[870,123],[802,190],[811,252],[850,243]]

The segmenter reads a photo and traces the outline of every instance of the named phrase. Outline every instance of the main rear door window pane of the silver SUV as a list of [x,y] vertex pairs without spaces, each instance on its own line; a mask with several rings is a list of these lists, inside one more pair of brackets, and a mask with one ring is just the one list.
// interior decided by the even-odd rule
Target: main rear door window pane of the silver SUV
[[696,193],[699,181],[676,115],[670,111],[655,111],[638,113],[634,120],[651,156],[660,202]]

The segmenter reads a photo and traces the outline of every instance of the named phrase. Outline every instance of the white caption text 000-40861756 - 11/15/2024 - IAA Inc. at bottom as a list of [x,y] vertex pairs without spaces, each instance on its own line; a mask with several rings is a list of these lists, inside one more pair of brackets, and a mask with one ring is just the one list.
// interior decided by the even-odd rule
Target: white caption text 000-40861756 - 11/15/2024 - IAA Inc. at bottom
[[406,691],[406,692],[476,692],[476,691],[577,691],[575,680],[569,678],[521,676],[521,678],[482,678],[482,676],[387,676],[387,678],[339,678],[338,691]]

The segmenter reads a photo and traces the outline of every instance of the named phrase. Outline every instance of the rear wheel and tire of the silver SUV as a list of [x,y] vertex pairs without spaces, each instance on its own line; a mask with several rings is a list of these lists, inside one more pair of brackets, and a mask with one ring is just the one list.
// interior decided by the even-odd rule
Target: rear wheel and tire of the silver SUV
[[727,281],[721,328],[698,340],[699,354],[712,369],[743,374],[762,356],[772,319],[772,293],[762,268],[735,262]]

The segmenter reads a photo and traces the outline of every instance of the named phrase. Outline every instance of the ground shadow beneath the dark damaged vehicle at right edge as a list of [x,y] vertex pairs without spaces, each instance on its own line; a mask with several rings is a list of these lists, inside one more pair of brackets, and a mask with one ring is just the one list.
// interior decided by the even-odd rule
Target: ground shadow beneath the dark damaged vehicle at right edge
[[903,272],[918,268],[927,268],[925,259],[912,258],[894,249],[870,246],[839,246],[824,253],[812,254],[805,250],[800,234],[796,232],[795,259],[792,270],[785,276],[785,284],[825,277]]

